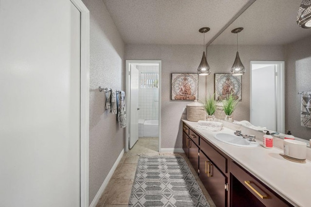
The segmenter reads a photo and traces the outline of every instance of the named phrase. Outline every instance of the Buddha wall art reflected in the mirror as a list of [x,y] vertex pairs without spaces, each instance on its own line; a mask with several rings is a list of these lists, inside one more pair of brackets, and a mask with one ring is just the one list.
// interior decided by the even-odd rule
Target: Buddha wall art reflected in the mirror
[[242,100],[241,81],[241,75],[215,74],[215,99],[224,100],[227,95],[232,94],[236,100]]

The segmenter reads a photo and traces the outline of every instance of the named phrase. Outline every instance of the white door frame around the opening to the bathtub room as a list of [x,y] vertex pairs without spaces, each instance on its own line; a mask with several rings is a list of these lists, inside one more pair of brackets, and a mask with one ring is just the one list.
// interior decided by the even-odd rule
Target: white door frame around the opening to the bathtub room
[[[129,82],[129,65],[130,64],[139,64],[139,63],[158,63],[159,64],[159,149],[160,152],[161,149],[161,60],[125,60],[125,78],[126,78],[126,111],[127,114],[131,114],[130,112],[130,82]],[[126,133],[125,133],[125,152],[128,152],[129,150],[129,119],[127,119],[127,125],[126,125]]]

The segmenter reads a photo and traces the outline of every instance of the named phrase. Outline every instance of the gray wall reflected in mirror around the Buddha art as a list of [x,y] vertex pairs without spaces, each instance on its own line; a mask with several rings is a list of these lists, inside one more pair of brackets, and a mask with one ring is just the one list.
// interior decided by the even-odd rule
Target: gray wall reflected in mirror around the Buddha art
[[[214,73],[230,73],[237,52],[236,45],[209,45],[207,47],[207,61],[213,74],[208,79],[207,89],[214,93]],[[242,101],[233,116],[235,120],[250,119],[250,61],[284,61],[285,52],[282,46],[239,46],[239,55],[245,67],[242,75]]]

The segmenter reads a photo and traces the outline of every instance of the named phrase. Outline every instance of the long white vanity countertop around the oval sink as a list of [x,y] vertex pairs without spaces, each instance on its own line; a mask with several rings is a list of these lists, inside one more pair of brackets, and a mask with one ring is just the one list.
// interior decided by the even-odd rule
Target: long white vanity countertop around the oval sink
[[[192,129],[198,126],[197,122],[182,120]],[[239,163],[252,173],[261,182],[276,191],[285,200],[297,207],[311,206],[311,161],[296,163],[283,158],[283,150],[274,147],[266,149],[262,146],[255,148],[238,147],[218,141],[213,136],[217,133],[233,134],[234,131],[224,128],[222,131],[211,132],[198,129],[195,131],[219,150]],[[310,196],[310,197],[309,197]]]

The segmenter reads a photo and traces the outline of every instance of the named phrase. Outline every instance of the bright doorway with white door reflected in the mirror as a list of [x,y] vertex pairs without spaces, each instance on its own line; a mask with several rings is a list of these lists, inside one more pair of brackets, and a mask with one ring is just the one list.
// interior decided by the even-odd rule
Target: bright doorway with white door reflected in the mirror
[[284,133],[284,61],[251,61],[250,121]]

